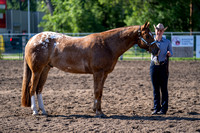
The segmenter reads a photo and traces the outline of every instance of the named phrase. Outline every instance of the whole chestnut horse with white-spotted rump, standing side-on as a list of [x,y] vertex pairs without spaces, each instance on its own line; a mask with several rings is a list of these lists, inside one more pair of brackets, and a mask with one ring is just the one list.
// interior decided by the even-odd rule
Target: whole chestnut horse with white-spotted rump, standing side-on
[[47,31],[36,34],[25,46],[22,107],[31,107],[32,115],[37,115],[36,93],[39,110],[42,111],[42,115],[47,115],[42,90],[49,70],[56,67],[70,73],[93,74],[93,111],[97,117],[104,117],[101,109],[104,82],[113,71],[118,58],[135,44],[153,55],[159,54],[159,48],[149,29],[149,22],[94,33],[82,38]]

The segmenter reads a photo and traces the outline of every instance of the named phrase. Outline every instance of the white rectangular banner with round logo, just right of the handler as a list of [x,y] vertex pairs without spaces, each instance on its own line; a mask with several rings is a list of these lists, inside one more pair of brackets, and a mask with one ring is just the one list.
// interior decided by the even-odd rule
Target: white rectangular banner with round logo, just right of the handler
[[172,36],[172,47],[193,47],[194,36]]

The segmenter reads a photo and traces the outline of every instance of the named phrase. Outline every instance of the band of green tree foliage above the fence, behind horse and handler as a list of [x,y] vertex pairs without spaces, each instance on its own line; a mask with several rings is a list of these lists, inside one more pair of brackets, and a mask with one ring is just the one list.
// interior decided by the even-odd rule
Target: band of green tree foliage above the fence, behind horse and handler
[[[163,23],[167,31],[189,31],[190,0],[51,0],[54,13],[40,24],[57,32],[100,32],[117,27]],[[192,28],[200,30],[200,0],[192,0]],[[40,10],[47,8],[40,1]]]

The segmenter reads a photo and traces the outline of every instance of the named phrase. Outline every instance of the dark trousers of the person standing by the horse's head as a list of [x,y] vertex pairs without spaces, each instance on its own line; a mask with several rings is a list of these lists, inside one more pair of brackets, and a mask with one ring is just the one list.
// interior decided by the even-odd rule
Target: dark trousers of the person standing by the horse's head
[[[151,62],[150,65],[150,75],[154,96],[154,110],[162,111],[164,113],[168,110],[168,74],[166,68],[167,63],[164,63],[163,65],[154,65],[154,63]],[[162,94],[162,99],[160,99],[160,92]]]

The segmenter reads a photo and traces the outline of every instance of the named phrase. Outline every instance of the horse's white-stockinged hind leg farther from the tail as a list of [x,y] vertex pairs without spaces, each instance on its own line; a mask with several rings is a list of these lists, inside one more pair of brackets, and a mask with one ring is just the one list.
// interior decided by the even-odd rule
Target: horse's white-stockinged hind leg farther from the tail
[[49,70],[50,70],[50,66],[46,66],[43,69],[42,74],[40,75],[40,80],[39,80],[39,83],[37,85],[37,89],[36,89],[38,106],[39,106],[39,109],[42,111],[43,115],[47,115],[47,113],[44,109],[44,104],[43,104],[43,100],[42,100],[42,89],[43,89],[43,86],[46,82]]

